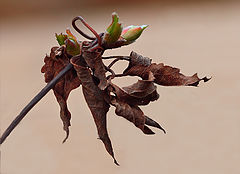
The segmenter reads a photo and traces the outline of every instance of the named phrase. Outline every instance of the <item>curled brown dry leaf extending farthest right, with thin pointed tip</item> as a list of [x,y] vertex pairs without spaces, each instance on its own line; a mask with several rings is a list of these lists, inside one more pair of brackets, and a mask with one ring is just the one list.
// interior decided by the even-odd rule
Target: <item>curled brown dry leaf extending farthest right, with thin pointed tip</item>
[[125,75],[139,76],[142,79],[147,79],[149,72],[153,73],[154,82],[163,86],[198,86],[203,80],[207,82],[207,77],[199,78],[197,74],[193,76],[185,76],[180,73],[180,69],[173,68],[163,63],[151,63],[147,57],[143,57],[135,52],[132,52],[131,61],[128,68],[124,71]]

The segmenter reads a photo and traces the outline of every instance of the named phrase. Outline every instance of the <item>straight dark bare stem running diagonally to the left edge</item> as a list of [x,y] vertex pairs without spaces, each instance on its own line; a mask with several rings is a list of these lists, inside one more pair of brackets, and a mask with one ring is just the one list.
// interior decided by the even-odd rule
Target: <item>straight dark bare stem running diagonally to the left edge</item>
[[20,112],[20,114],[12,121],[5,132],[0,137],[0,144],[2,144],[13,129],[20,123],[26,114],[55,86],[55,84],[73,68],[72,64],[68,64],[59,74],[50,81]]

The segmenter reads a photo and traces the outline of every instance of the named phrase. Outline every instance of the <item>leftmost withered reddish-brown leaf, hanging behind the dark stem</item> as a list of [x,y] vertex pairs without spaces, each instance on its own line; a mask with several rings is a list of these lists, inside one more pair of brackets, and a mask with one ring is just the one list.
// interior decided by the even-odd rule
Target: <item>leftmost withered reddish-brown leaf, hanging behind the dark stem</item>
[[[48,83],[69,63],[69,58],[65,53],[65,47],[53,47],[50,56],[46,56],[44,62],[45,64],[42,67],[41,72],[45,73],[45,82]],[[53,88],[54,95],[60,106],[60,117],[63,121],[63,129],[66,131],[66,138],[63,142],[68,138],[68,127],[71,125],[71,113],[67,107],[67,99],[70,92],[79,87],[80,84],[81,81],[77,77],[76,72],[70,70]]]

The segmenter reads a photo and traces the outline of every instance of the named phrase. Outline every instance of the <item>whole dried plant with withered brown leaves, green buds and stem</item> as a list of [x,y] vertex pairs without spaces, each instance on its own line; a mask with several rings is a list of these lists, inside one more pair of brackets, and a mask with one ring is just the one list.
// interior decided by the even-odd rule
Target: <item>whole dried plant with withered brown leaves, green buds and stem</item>
[[[94,37],[85,34],[77,27],[76,21],[78,20],[94,34]],[[118,165],[106,126],[106,115],[110,106],[115,107],[115,113],[118,116],[132,122],[144,134],[154,134],[148,126],[159,128],[166,133],[160,124],[146,116],[139,107],[148,105],[159,98],[155,84],[197,86],[201,80],[204,82],[209,80],[207,77],[199,78],[197,74],[185,76],[180,73],[178,68],[163,63],[152,63],[150,58],[133,51],[130,56],[103,57],[103,53],[107,49],[119,48],[135,42],[147,25],[122,28],[118,15],[113,13],[112,23],[104,33],[98,34],[80,16],[73,19],[72,26],[90,41],[78,41],[69,29],[64,34],[56,34],[60,46],[51,49],[51,53],[45,57],[45,64],[41,69],[45,76],[45,82],[48,84],[3,133],[0,139],[1,144],[27,112],[50,89],[53,89],[60,106],[60,117],[63,129],[66,131],[66,137],[63,140],[65,142],[69,136],[69,126],[71,125],[71,113],[67,107],[67,99],[70,92],[81,85],[85,100],[94,118],[99,139],[102,140],[107,152]],[[106,66],[103,59],[113,59],[113,61]],[[119,60],[129,62],[122,74],[116,74],[112,69],[112,66]],[[106,76],[106,72],[110,72],[110,75]],[[112,79],[123,76],[137,76],[141,80],[122,88],[112,82]]]

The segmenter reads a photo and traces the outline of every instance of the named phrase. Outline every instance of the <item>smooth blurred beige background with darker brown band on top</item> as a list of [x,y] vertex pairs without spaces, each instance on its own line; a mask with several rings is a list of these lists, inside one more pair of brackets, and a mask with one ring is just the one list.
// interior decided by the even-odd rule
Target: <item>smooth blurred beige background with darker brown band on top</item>
[[240,3],[234,1],[1,1],[1,132],[45,85],[40,69],[57,45],[54,34],[71,28],[77,15],[102,32],[113,11],[125,26],[149,27],[136,43],[105,55],[134,50],[212,80],[199,88],[158,87],[160,99],[142,109],[166,135],[157,129],[154,136],[143,135],[111,109],[108,129],[120,167],[97,140],[80,88],[70,95],[70,138],[61,143],[65,134],[50,92],[1,146],[0,173],[239,174]]

